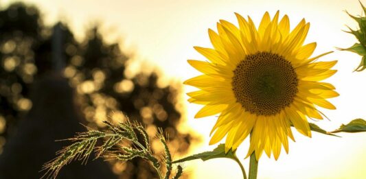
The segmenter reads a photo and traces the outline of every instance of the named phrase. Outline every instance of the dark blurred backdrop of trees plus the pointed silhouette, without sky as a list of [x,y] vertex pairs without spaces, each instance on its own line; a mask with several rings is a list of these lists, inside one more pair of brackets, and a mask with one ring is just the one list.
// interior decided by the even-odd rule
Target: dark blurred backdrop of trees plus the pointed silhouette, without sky
[[[40,178],[43,163],[67,145],[56,140],[86,130],[80,123],[104,128],[102,121],[118,123],[124,115],[144,123],[151,136],[163,128],[174,154],[187,152],[192,135],[177,130],[180,82],[161,81],[157,70],[127,71],[133,53],[106,43],[98,24],[78,41],[65,22],[45,25],[34,5],[10,3],[0,14],[0,178]],[[60,178],[155,176],[141,159],[89,163],[62,169]]]

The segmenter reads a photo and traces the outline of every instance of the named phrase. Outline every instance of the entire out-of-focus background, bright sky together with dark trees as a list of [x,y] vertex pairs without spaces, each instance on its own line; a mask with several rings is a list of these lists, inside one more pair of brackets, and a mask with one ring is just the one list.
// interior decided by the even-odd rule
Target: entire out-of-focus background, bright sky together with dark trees
[[[0,178],[40,178],[41,165],[68,144],[55,140],[84,131],[80,123],[103,129],[103,120],[124,115],[149,134],[163,128],[174,158],[213,149],[216,117],[194,119],[201,106],[186,102],[194,88],[181,84],[198,75],[186,60],[204,60],[192,46],[211,47],[207,28],[219,19],[237,24],[233,12],[258,24],[264,12],[277,10],[292,28],[302,18],[310,22],[306,43],[318,43],[314,56],[334,51],[322,60],[339,60],[339,72],[327,80],[341,94],[331,99],[337,110],[322,110],[331,121],[317,125],[329,131],[365,118],[366,73],[352,73],[361,57],[334,49],[356,43],[342,30],[357,27],[344,10],[361,14],[358,1],[0,0]],[[366,178],[366,134],[342,136],[295,134],[289,154],[261,158],[258,178]],[[246,140],[238,149],[247,169],[248,146]],[[229,159],[183,166],[185,178],[241,178]],[[71,163],[59,175],[155,177],[144,160]]]

